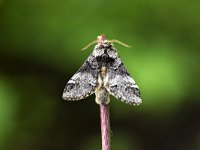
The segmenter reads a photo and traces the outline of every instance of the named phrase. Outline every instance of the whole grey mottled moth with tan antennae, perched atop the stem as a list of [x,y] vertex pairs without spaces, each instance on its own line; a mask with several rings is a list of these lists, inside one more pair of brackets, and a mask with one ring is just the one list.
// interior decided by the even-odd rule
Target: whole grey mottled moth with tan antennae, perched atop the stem
[[92,54],[73,75],[64,88],[63,99],[81,100],[95,93],[97,104],[108,104],[109,94],[122,102],[139,105],[141,94],[136,82],[131,78],[113,43],[126,44],[118,40],[107,40],[100,35],[83,49],[97,43]]

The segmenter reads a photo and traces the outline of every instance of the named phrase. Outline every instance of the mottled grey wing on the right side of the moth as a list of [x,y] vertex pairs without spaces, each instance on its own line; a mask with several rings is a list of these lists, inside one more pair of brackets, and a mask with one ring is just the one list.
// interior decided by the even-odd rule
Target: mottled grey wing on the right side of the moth
[[123,102],[134,105],[142,103],[137,84],[119,58],[108,70],[108,85],[106,89],[111,95]]

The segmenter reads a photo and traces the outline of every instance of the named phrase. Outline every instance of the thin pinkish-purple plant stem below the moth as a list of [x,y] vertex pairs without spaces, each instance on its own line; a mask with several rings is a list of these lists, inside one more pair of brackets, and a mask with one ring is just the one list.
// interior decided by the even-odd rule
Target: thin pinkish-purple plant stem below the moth
[[100,104],[102,150],[110,150],[109,105]]

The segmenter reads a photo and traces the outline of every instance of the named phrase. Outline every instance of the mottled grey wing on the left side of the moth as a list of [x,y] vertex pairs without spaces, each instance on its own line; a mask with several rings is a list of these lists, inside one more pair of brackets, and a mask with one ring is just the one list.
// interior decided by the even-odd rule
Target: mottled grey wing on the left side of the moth
[[91,95],[97,86],[98,63],[93,55],[85,61],[82,67],[68,81],[63,91],[63,99],[80,100]]

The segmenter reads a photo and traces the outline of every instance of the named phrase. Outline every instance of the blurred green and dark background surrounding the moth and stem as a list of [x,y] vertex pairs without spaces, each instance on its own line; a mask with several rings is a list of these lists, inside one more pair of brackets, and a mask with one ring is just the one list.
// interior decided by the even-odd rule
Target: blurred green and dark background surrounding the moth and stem
[[200,1],[0,0],[1,150],[101,149],[94,95],[61,96],[103,33],[143,99],[111,98],[112,149],[200,149]]

